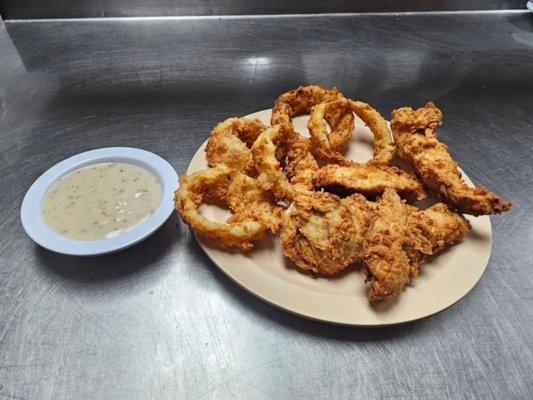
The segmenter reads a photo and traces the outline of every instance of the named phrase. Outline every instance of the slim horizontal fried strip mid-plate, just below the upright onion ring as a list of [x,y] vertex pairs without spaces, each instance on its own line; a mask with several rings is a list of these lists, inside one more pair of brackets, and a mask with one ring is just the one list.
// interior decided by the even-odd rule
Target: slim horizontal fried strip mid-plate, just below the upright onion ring
[[427,197],[422,184],[415,176],[396,167],[374,164],[329,164],[316,175],[316,186],[326,190],[342,189],[366,196],[381,195],[387,188],[395,189],[401,196],[413,196],[417,200]]

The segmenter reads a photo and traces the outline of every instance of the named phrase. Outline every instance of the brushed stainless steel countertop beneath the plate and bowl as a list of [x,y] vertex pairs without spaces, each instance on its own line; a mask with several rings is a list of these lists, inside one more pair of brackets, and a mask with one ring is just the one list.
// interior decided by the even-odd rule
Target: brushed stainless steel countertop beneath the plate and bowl
[[[0,25],[0,398],[533,398],[533,18],[526,13]],[[128,145],[183,173],[214,124],[299,84],[385,115],[435,101],[469,176],[511,199],[458,304],[321,324],[230,282],[173,216],[127,251],[52,254],[19,206],[54,163]],[[465,268],[468,268],[465,265]]]

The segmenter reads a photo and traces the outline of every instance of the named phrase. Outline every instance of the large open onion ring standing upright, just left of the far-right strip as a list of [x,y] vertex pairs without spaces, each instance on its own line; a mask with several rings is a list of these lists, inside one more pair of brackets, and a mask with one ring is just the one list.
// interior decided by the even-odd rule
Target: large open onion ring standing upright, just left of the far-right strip
[[339,112],[338,110],[346,108],[361,118],[374,134],[374,158],[369,163],[390,165],[394,159],[396,148],[393,144],[392,134],[387,125],[387,121],[367,103],[345,98],[323,102],[313,108],[307,127],[311,134],[314,153],[318,157],[330,162],[342,165],[352,163],[352,161],[347,160],[337,151],[327,131],[327,113],[331,112],[331,110]]

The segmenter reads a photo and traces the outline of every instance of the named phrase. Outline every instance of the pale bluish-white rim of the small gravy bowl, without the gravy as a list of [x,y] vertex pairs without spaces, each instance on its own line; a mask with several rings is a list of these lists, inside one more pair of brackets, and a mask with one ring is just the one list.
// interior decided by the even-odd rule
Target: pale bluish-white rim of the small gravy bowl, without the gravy
[[[81,241],[54,232],[43,218],[43,201],[48,189],[64,175],[91,164],[123,162],[150,171],[159,180],[163,192],[155,212],[139,226],[109,239]],[[130,247],[155,232],[174,210],[174,191],[178,175],[172,166],[154,153],[131,147],[107,147],[80,153],[54,165],[31,185],[20,207],[20,219],[26,233],[42,247],[57,253],[95,256]]]

